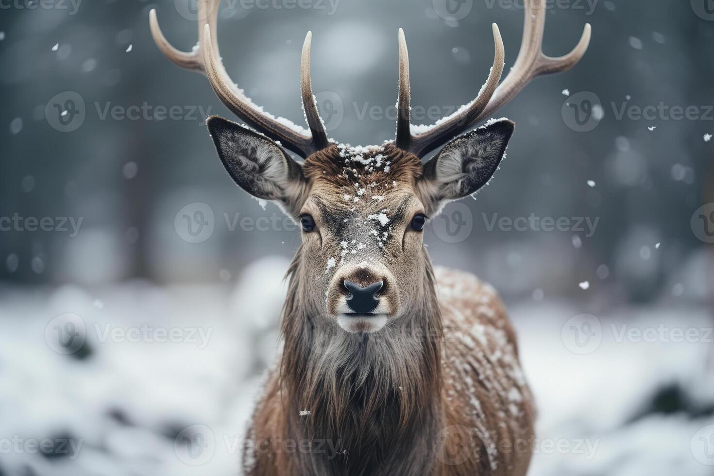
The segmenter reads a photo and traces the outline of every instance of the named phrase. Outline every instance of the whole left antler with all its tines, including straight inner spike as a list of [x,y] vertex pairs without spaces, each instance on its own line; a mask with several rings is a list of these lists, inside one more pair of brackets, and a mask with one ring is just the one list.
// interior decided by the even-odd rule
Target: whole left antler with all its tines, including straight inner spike
[[283,146],[298,153],[303,158],[309,156],[328,145],[325,128],[317,110],[315,97],[312,93],[310,83],[310,42],[311,32],[305,38],[303,44],[303,54],[301,59],[301,93],[303,98],[303,109],[308,121],[310,133],[304,133],[304,129],[283,118],[263,111],[263,109],[253,103],[243,90],[238,88],[231,80],[218,51],[218,40],[216,39],[216,20],[218,19],[218,4],[221,0],[200,0],[198,4],[198,44],[193,47],[193,51],[186,53],[178,51],[171,46],[166,37],[161,33],[159,21],[156,19],[156,10],[149,13],[149,24],[151,26],[151,36],[154,37],[159,50],[173,62],[176,66],[198,73],[205,74],[211,83],[216,96],[233,113],[241,118],[245,123],[258,129],[266,136],[281,141]]

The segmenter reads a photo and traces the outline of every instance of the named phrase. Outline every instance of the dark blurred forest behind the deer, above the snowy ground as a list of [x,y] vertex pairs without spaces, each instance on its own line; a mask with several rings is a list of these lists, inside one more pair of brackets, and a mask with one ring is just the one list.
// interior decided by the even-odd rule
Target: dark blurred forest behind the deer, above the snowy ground
[[[431,1],[333,2],[314,1],[311,9],[224,2],[218,31],[233,80],[267,111],[303,125],[298,69],[304,35],[312,30],[313,90],[326,98],[323,116],[337,108],[330,135],[342,142],[393,138],[388,108],[396,101],[398,27],[411,53],[413,107],[431,111],[422,113],[423,123],[476,95],[493,58],[492,21],[501,27],[506,71],[520,46],[523,9],[515,0],[466,1],[460,5],[470,7],[468,15],[458,21],[443,19]],[[195,22],[175,6],[181,1],[62,5],[66,9],[7,9],[0,18],[0,216],[83,221],[74,237],[2,233],[0,256],[7,263],[0,280],[210,281],[220,279],[221,269],[237,273],[256,256],[292,255],[296,231],[231,231],[226,224],[226,215],[230,223],[236,213],[277,219],[280,211],[272,205],[263,210],[236,189],[203,126],[206,112],[230,113],[205,78],[170,64],[151,40],[147,19],[157,7],[174,45],[190,50],[195,44]],[[690,218],[714,200],[714,142],[703,141],[714,133],[714,114],[707,120],[704,108],[714,103],[714,64],[708,61],[714,23],[683,1],[660,1],[656,8],[645,1],[570,5],[549,10],[544,51],[565,54],[587,21],[594,31],[588,54],[575,69],[531,83],[499,113],[518,129],[496,181],[478,201],[463,202],[473,231],[458,243],[432,233],[430,252],[436,263],[486,275],[507,294],[534,288],[577,294],[573,283],[590,280],[594,287],[600,281],[595,270],[604,264],[609,272],[597,285],[613,286],[610,297],[652,300],[685,279],[677,275],[683,266],[703,258],[698,253],[705,243],[692,233]],[[563,121],[563,90],[600,99],[603,117],[592,131],[573,131]],[[78,93],[85,108],[84,122],[69,132],[53,128],[45,114],[51,98],[64,91]],[[334,98],[341,104],[335,106]],[[647,121],[616,114],[624,103],[644,108],[660,102],[698,106],[702,118]],[[139,118],[106,113],[144,104],[149,112]],[[151,115],[160,106],[180,112],[159,121]],[[365,113],[373,106],[383,114]],[[202,243],[186,243],[174,228],[176,213],[194,202],[210,206],[215,218],[212,236]],[[494,213],[599,221],[589,237],[489,231]],[[580,248],[571,244],[574,234]],[[658,242],[663,245],[655,252]],[[641,253],[645,258],[643,246],[650,248]],[[690,284],[683,292],[701,297]]]

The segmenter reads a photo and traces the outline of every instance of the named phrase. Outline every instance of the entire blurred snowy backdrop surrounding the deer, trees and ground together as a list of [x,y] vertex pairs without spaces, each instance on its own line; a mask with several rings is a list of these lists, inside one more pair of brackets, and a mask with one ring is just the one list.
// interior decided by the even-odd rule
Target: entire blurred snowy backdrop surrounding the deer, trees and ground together
[[[508,157],[478,200],[433,217],[429,253],[503,295],[539,435],[602,442],[588,460],[538,455],[531,474],[710,474],[713,344],[615,342],[607,330],[712,326],[714,5],[548,4],[545,53],[570,51],[586,22],[590,48],[498,112],[517,123]],[[194,0],[0,0],[0,443],[85,442],[70,459],[3,453],[1,476],[236,474],[234,452],[208,470],[183,465],[174,441],[196,424],[216,440],[242,436],[301,238],[223,170],[203,120],[231,114],[203,76],[160,54],[152,8],[190,51]],[[218,39],[247,95],[303,125],[299,61],[311,30],[328,135],[366,145],[394,135],[399,27],[414,122],[433,123],[486,80],[492,22],[505,76],[521,0],[224,0]],[[653,117],[637,113],[648,107]],[[691,113],[675,118],[676,108]],[[526,231],[498,225],[531,216],[540,224]],[[544,218],[569,225],[545,231]],[[188,228],[191,219],[203,226]],[[62,355],[48,337],[63,313],[86,325],[80,353]],[[561,334],[582,313],[605,329],[588,355]],[[214,332],[198,350],[90,332],[147,323]],[[698,431],[709,432],[705,457]]]

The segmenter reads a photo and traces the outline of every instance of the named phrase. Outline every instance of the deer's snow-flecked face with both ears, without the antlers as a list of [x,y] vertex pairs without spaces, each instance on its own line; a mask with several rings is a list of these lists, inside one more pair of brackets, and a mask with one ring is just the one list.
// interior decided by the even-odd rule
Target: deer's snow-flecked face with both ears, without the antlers
[[493,121],[453,139],[425,165],[392,143],[331,144],[297,163],[264,136],[223,118],[208,120],[238,186],[276,201],[300,223],[298,273],[311,313],[350,333],[376,332],[420,304],[426,222],[444,203],[488,183],[513,127]]

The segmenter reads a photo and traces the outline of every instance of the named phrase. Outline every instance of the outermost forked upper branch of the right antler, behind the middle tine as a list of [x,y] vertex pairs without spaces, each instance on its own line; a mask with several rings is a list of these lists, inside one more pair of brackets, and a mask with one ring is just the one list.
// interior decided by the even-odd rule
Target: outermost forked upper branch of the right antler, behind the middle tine
[[523,23],[523,40],[518,52],[516,64],[498,86],[488,106],[479,114],[476,121],[481,121],[511,101],[531,80],[544,74],[568,71],[583,58],[590,44],[591,27],[585,24],[580,41],[573,51],[551,58],[543,54],[543,31],[545,30],[545,0],[526,0],[526,18]]

